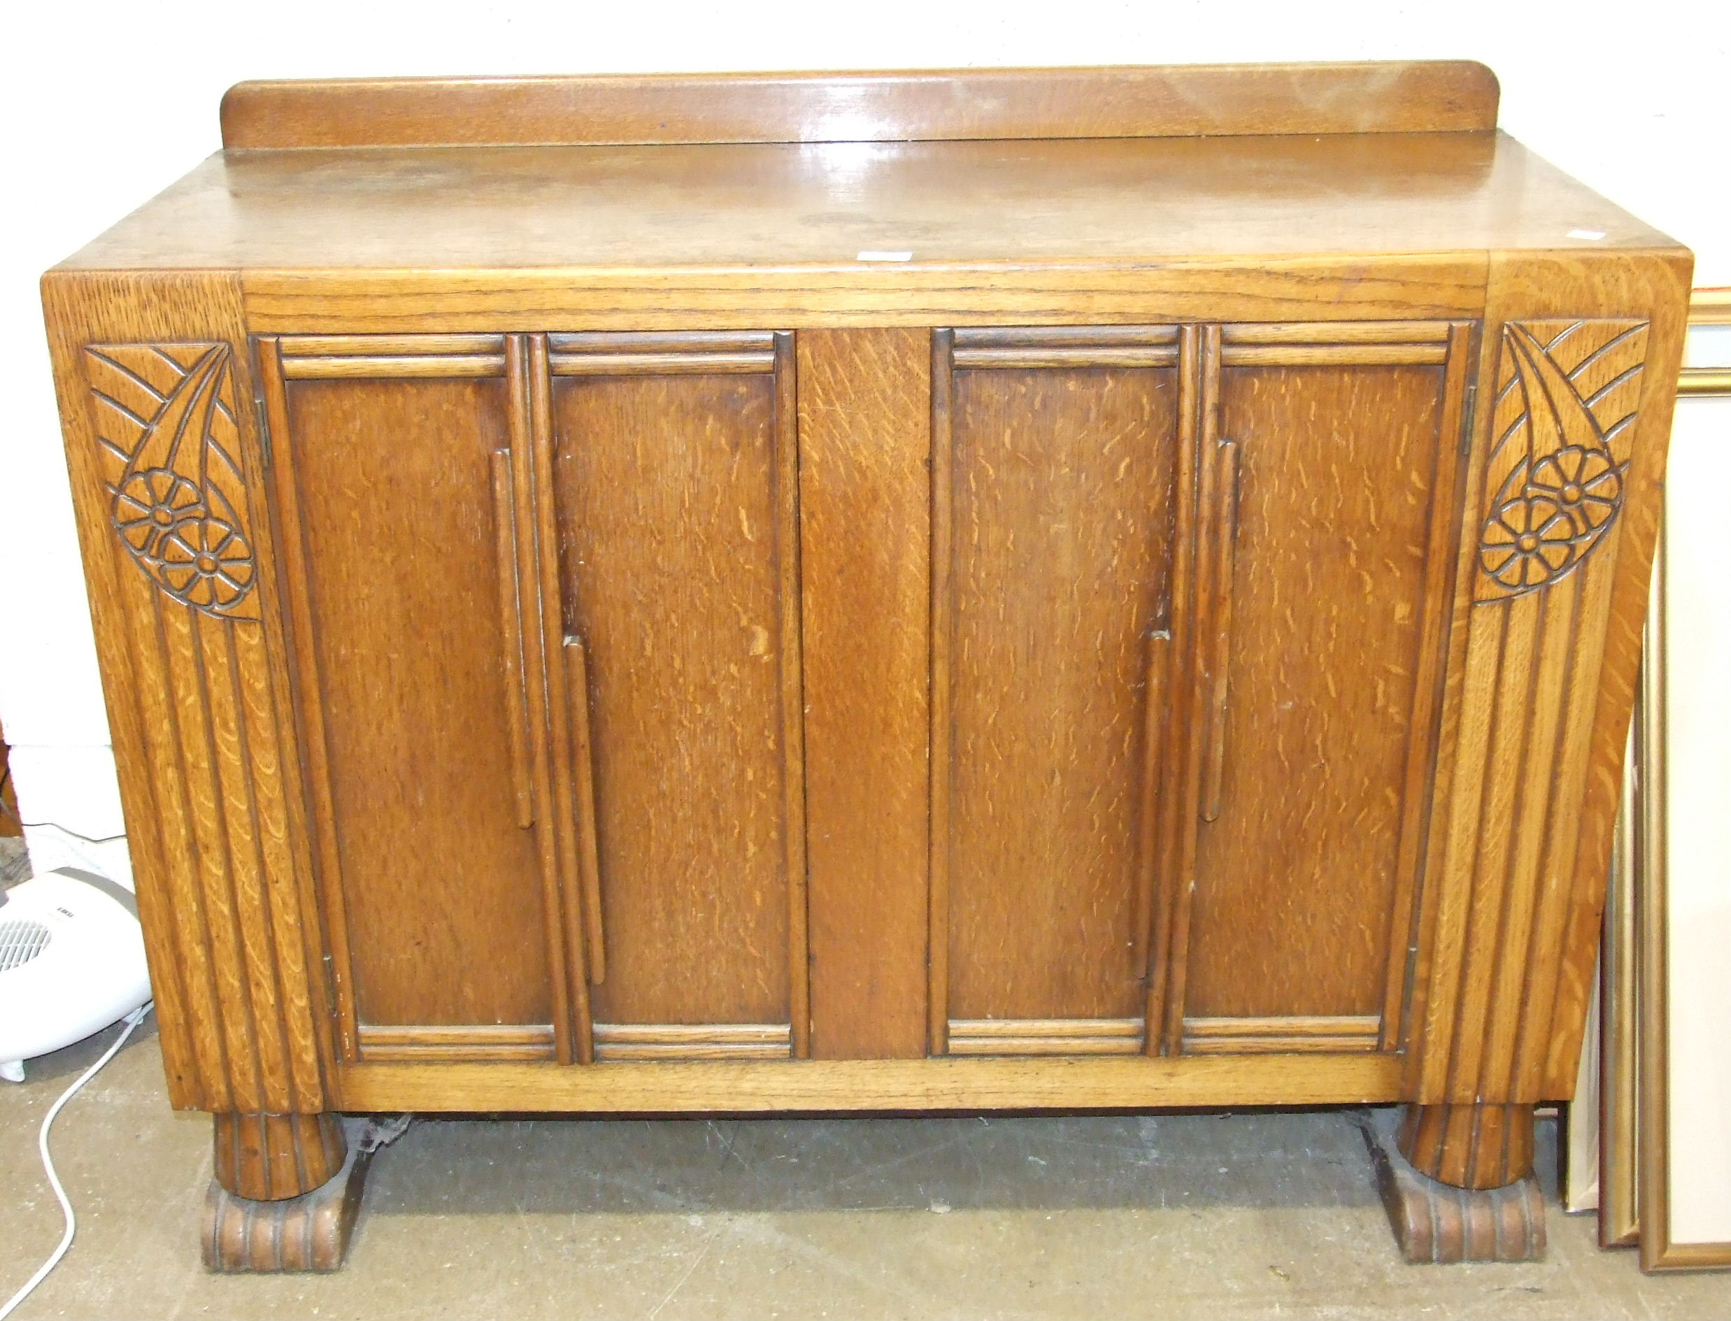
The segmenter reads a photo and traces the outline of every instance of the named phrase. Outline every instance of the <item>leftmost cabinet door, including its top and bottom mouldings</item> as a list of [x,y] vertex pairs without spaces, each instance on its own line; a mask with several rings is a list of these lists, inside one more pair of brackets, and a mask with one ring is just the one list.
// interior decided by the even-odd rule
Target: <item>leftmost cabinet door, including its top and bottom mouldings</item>
[[[260,341],[350,1060],[571,1058],[504,336]],[[518,433],[516,436],[512,433]]]

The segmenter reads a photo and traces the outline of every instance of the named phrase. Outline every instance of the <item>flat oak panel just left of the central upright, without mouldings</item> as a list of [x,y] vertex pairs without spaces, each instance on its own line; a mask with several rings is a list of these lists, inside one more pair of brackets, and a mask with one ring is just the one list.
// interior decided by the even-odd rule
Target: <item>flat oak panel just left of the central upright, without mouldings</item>
[[795,551],[777,526],[775,388],[769,372],[554,377],[559,606],[589,672],[597,1023],[789,1016]]

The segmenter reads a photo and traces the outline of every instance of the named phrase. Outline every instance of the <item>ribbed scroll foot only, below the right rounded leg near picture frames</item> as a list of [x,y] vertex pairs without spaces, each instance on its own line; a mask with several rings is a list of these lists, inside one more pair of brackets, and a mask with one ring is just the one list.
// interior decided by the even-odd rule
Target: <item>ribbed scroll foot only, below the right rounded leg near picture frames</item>
[[1395,1134],[1367,1124],[1376,1188],[1409,1262],[1535,1262],[1544,1259],[1544,1196],[1527,1174],[1501,1188],[1456,1188],[1412,1169]]

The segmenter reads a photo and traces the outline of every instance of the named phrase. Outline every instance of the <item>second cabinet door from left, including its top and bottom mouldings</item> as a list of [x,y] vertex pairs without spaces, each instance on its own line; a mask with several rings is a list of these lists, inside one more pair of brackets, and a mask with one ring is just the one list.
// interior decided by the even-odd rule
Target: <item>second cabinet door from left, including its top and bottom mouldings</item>
[[547,348],[595,1054],[805,1054],[793,336]]

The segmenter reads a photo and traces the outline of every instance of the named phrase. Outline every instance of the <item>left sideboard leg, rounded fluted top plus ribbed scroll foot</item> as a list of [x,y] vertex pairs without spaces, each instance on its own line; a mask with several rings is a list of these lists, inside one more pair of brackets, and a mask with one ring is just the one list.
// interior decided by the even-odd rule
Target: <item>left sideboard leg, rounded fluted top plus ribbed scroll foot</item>
[[360,1214],[370,1150],[338,1115],[216,1115],[204,1269],[336,1271]]

